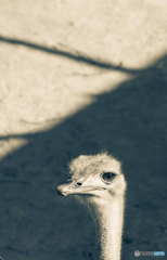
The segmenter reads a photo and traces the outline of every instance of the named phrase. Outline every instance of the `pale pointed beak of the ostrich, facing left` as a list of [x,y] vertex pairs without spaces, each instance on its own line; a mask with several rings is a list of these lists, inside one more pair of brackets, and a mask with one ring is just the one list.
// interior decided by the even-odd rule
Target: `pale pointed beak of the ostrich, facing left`
[[61,196],[68,196],[68,195],[93,195],[90,192],[95,190],[105,190],[103,187],[94,187],[94,186],[82,186],[77,185],[75,181],[70,181],[69,183],[65,183],[57,186],[57,194]]

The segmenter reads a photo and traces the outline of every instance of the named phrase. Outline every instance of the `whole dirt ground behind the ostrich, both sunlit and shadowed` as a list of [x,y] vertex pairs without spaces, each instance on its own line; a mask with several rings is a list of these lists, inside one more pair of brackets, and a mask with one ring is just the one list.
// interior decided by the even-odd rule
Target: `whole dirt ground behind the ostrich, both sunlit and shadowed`
[[128,183],[121,259],[167,253],[166,13],[166,0],[0,0],[4,260],[93,259],[91,217],[56,186],[103,148]]

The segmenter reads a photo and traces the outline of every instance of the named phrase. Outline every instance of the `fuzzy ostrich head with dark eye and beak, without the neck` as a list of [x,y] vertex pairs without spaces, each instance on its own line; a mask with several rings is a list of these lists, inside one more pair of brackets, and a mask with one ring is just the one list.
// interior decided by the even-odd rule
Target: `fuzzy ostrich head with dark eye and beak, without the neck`
[[69,179],[57,187],[60,195],[76,195],[82,203],[89,200],[99,204],[124,195],[126,182],[120,162],[113,156],[106,153],[80,155],[68,167]]

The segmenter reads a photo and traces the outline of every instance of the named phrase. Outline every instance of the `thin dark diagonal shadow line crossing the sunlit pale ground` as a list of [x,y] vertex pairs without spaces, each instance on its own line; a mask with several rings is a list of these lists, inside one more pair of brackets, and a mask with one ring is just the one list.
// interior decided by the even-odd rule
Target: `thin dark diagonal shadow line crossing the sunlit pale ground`
[[16,40],[16,39],[3,37],[3,36],[0,36],[0,41],[5,42],[5,43],[10,43],[10,44],[24,46],[24,47],[27,47],[27,48],[30,48],[30,49],[34,49],[34,50],[39,50],[39,51],[42,51],[42,52],[47,52],[49,54],[64,56],[64,57],[70,58],[73,61],[76,61],[76,62],[79,62],[79,63],[85,63],[87,65],[94,66],[94,67],[100,67],[100,68],[103,68],[103,69],[119,70],[119,72],[131,74],[131,75],[136,75],[136,74],[142,72],[141,69],[125,68],[125,67],[121,66],[121,64],[114,65],[114,64],[108,63],[106,61],[97,61],[97,60],[93,60],[91,57],[88,57],[86,54],[80,53],[78,51],[76,53],[69,53],[69,52],[62,51],[62,50],[60,50],[55,47],[53,49],[51,49],[51,48],[47,48],[47,47],[43,47],[43,46],[40,46],[40,44],[37,44],[37,43],[27,42],[27,41],[24,41],[24,40]]

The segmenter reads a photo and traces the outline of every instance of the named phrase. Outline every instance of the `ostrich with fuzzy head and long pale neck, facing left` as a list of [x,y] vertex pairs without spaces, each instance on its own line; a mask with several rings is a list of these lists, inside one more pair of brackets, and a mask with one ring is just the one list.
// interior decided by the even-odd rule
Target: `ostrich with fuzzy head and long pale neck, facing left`
[[80,155],[68,165],[70,178],[57,194],[74,195],[95,223],[95,259],[119,260],[126,181],[120,162],[107,153]]

